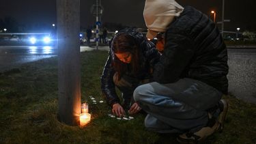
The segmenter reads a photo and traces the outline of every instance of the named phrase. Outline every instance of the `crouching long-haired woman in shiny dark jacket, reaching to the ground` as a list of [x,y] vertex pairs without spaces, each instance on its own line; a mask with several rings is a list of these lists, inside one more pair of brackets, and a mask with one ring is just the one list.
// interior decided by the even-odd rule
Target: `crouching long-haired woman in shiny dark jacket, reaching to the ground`
[[[122,29],[115,34],[110,44],[109,57],[101,76],[101,89],[112,113],[117,117],[135,114],[141,108],[134,102],[134,89],[152,79],[152,69],[160,54],[155,45],[136,29]],[[115,87],[122,93],[117,95]]]

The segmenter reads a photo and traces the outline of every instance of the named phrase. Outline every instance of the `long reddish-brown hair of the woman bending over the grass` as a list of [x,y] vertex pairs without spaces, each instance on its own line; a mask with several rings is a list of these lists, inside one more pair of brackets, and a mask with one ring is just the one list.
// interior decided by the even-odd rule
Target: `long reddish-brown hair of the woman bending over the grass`
[[[115,38],[113,38],[111,51],[113,53],[113,68],[117,72],[118,80],[122,77],[125,72],[131,72],[134,76],[139,71],[140,59],[139,59],[139,46],[135,40],[135,38],[128,33],[117,33]],[[129,52],[132,54],[132,60],[130,62],[130,67],[128,67],[127,63],[120,61],[115,53],[126,53]],[[129,68],[131,70],[129,70]]]

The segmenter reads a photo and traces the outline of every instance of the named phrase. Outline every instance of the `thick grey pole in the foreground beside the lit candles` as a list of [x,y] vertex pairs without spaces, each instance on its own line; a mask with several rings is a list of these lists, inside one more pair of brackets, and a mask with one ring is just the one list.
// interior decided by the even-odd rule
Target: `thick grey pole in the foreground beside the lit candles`
[[57,0],[59,121],[79,125],[81,113],[80,0]]

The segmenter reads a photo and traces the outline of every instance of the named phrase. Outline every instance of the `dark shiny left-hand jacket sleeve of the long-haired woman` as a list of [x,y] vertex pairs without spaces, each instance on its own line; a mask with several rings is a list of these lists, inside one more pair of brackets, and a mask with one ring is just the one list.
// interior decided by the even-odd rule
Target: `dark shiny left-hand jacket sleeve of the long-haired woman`
[[115,71],[111,66],[111,59],[111,56],[109,56],[106,60],[104,70],[100,78],[103,96],[106,98],[106,102],[110,106],[120,101],[117,93],[115,92],[115,83],[113,82]]

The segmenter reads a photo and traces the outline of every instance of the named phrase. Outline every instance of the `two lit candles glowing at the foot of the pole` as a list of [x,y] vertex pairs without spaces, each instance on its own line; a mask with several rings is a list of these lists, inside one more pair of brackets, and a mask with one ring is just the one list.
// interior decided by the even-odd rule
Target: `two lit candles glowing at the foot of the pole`
[[85,126],[91,121],[91,114],[88,112],[88,104],[85,102],[81,105],[80,126]]

